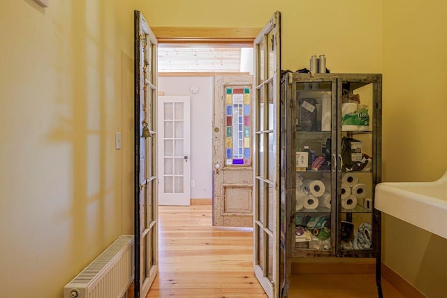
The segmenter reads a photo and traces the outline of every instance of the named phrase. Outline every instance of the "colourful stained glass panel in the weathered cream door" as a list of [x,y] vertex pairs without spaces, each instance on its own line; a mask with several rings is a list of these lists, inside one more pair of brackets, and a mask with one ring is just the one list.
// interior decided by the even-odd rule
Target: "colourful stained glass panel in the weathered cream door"
[[249,87],[226,87],[226,165],[251,165]]

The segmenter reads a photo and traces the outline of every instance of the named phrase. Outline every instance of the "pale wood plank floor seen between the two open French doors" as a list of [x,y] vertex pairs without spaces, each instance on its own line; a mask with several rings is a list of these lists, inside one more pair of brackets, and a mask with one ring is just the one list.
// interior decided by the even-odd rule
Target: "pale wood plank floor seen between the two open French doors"
[[267,297],[253,274],[251,230],[212,228],[211,205],[159,207],[152,297]]

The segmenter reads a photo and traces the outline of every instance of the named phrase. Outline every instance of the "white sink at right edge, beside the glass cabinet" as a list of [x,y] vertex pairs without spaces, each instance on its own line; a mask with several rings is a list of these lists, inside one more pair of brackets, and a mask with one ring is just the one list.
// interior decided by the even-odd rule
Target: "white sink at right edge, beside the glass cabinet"
[[374,206],[447,239],[447,172],[432,182],[379,183]]

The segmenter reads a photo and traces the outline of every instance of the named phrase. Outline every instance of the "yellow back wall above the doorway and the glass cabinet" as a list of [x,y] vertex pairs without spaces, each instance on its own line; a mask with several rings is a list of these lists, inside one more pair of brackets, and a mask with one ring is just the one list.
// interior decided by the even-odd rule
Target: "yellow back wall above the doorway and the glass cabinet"
[[282,69],[309,68],[325,54],[332,73],[380,73],[381,1],[136,1],[151,26],[260,27],[282,16]]

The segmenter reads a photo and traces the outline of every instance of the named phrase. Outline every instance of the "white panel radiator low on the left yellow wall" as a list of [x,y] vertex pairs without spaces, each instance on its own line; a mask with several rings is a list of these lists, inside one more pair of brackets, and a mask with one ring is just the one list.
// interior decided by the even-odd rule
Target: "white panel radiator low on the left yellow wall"
[[120,236],[64,288],[64,298],[122,298],[134,278],[133,235]]

